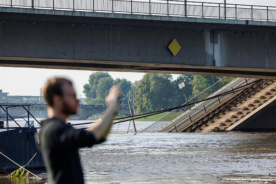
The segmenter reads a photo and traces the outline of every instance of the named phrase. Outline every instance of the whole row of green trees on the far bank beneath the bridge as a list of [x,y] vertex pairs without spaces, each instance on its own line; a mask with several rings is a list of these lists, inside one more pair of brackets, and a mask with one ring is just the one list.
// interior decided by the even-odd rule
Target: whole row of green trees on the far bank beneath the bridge
[[[145,113],[179,106],[186,102],[184,95],[189,100],[220,79],[222,77],[179,75],[173,80],[171,74],[145,74],[141,80],[131,83],[126,79],[113,79],[107,72],[94,72],[84,84],[83,93],[87,104],[104,104],[109,88],[119,85],[120,104],[128,105],[128,100],[134,98],[137,112]],[[181,82],[185,84],[183,89],[178,87]]]

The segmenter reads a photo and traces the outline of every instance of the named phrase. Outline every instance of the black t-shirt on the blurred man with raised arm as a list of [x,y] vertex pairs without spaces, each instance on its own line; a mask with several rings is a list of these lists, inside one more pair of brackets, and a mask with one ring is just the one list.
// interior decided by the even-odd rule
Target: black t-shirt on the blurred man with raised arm
[[[104,140],[103,140],[104,141]],[[53,118],[41,122],[39,148],[49,183],[83,183],[78,148],[99,144],[93,133]]]

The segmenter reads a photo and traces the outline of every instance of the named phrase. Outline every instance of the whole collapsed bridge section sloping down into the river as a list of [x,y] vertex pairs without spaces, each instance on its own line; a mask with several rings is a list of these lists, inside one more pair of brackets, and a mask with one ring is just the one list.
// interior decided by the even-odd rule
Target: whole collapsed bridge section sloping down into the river
[[189,100],[188,104],[193,104],[190,108],[173,110],[142,132],[276,130],[273,123],[275,81],[237,78],[225,85],[225,79]]

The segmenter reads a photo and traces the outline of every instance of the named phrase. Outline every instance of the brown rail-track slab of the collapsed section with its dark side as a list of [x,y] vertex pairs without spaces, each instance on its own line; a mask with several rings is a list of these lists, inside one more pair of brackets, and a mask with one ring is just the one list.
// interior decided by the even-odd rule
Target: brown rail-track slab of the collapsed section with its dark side
[[[262,84],[262,82],[260,83]],[[275,81],[266,81],[254,90],[251,90],[248,95],[231,103],[231,106],[226,110],[220,111],[220,107],[217,107],[212,112],[205,114],[204,119],[198,119],[198,121],[194,122],[195,126],[191,126],[190,129],[185,129],[185,132],[210,132],[221,130],[274,131],[273,113],[269,112],[270,114],[265,114],[266,109],[264,107],[273,106],[271,110],[274,110],[275,88]],[[237,96],[238,95],[240,94],[237,94]],[[215,116],[213,115],[214,113],[216,113]],[[212,118],[209,118],[211,116]],[[265,118],[269,121],[260,121],[260,119],[265,120]]]

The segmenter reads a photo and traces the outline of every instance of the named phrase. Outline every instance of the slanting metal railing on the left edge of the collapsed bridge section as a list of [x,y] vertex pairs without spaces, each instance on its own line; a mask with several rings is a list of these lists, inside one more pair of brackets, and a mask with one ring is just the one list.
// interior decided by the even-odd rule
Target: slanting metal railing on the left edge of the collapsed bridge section
[[[186,103],[184,103],[182,105],[195,103],[197,101],[200,101],[200,100],[203,100],[205,98],[208,98],[208,97],[212,96],[212,94],[214,94],[216,91],[218,91],[222,87],[224,87],[226,84],[228,84],[229,82],[233,81],[234,79],[235,78],[224,77],[224,78],[222,78],[221,80],[219,80],[218,82],[216,82],[212,86],[206,88],[201,93],[199,93],[198,95],[196,95],[195,97],[193,97],[192,99],[188,100],[188,102],[186,102]],[[195,105],[193,105],[193,106],[195,106]],[[192,107],[190,107],[190,108],[192,108]],[[142,133],[156,132],[160,128],[168,125],[169,123],[171,123],[174,120],[176,120],[179,117],[181,117],[183,114],[186,113],[187,110],[189,110],[189,107],[182,107],[182,108],[173,110],[173,111],[169,112],[166,116],[164,116],[163,118],[161,118],[160,120],[156,121],[155,123],[153,123],[149,127],[147,127],[144,130],[142,130],[141,132]]]

